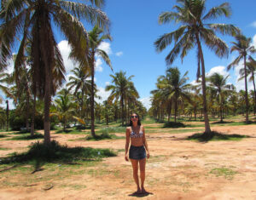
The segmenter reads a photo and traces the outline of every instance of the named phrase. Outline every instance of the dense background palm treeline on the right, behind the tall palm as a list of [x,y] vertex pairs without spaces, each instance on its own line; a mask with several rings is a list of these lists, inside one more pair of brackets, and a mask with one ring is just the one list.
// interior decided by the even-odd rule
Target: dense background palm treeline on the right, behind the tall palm
[[[186,76],[187,72],[181,77],[177,67],[171,67],[166,70],[165,76],[158,78],[157,89],[151,91],[152,106],[148,111],[151,117],[168,122],[172,117],[174,122],[177,118],[189,121],[203,119],[200,80],[189,84]],[[246,114],[245,91],[237,92],[233,84],[227,83],[228,77],[217,72],[207,77],[207,110],[212,118],[219,118],[220,123],[227,116]],[[255,116],[255,90],[249,91],[248,102],[249,113]]]

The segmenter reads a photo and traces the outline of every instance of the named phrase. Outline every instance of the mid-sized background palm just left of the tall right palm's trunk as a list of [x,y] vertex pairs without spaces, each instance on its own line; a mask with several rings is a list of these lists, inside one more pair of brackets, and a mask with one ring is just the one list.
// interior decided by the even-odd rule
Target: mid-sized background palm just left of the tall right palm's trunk
[[185,72],[183,77],[180,76],[180,71],[177,67],[170,67],[166,70],[166,76],[160,76],[160,83],[158,88],[164,90],[166,94],[165,99],[174,101],[174,122],[177,118],[177,101],[181,97],[190,101],[189,95],[186,93],[189,88],[189,84],[185,84],[189,79],[186,77],[188,71]]

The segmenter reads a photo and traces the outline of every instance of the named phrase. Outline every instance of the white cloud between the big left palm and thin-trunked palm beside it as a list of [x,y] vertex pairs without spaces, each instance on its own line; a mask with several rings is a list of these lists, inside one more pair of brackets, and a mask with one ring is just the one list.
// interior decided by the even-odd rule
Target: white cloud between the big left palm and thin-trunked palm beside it
[[71,47],[67,43],[67,40],[62,40],[60,43],[58,43],[58,48],[61,51],[61,56],[64,61],[64,66],[65,66],[66,72],[68,73],[69,71],[72,71],[74,68],[73,60],[68,58],[68,56],[71,52]]

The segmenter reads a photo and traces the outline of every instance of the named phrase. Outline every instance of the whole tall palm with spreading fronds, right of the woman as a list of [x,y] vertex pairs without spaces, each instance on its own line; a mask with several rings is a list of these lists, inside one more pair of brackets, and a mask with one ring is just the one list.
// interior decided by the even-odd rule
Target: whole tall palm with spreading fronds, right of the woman
[[229,49],[215,32],[234,35],[238,29],[233,25],[211,24],[207,20],[215,20],[218,17],[230,16],[229,3],[222,3],[218,7],[213,7],[205,14],[206,0],[177,0],[178,5],[173,8],[177,12],[164,12],[160,14],[159,23],[166,24],[172,21],[181,24],[176,31],[160,36],[154,43],[157,51],[166,49],[166,46],[174,43],[171,52],[166,56],[166,63],[171,65],[180,54],[181,59],[188,54],[190,49],[197,48],[197,78],[201,75],[201,86],[203,92],[205,134],[211,135],[210,123],[207,114],[207,88],[205,77],[205,63],[201,43],[205,43],[219,57],[228,56]]

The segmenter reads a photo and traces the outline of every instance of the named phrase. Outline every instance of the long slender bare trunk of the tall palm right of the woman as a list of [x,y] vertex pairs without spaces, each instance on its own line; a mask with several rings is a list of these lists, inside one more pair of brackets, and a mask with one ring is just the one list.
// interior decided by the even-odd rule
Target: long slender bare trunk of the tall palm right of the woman
[[200,54],[200,60],[201,60],[201,86],[202,86],[202,92],[203,92],[203,111],[204,111],[204,119],[205,119],[205,134],[206,136],[211,136],[211,128],[207,113],[207,86],[206,86],[206,71],[205,71],[205,62],[204,57],[201,49],[201,42],[199,39],[198,33],[196,34],[196,42],[198,45],[198,50]]

